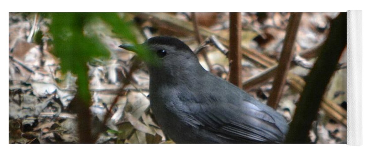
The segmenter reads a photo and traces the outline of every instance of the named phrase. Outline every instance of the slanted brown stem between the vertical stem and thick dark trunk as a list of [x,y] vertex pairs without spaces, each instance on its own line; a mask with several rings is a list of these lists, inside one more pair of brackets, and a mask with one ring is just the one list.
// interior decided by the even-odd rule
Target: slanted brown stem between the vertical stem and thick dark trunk
[[270,92],[268,106],[276,109],[283,95],[284,84],[286,83],[287,73],[293,59],[293,45],[297,37],[298,25],[301,21],[302,12],[292,13],[289,18],[287,26],[286,37],[284,38],[284,45],[279,58],[279,65],[276,69],[276,76],[273,82],[273,88]]

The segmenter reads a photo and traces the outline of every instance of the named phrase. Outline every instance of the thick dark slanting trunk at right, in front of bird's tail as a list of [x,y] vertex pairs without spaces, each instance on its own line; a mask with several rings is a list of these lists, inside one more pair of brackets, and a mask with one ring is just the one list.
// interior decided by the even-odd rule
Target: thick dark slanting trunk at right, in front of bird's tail
[[310,71],[304,91],[297,102],[286,143],[309,143],[309,130],[316,119],[327,84],[346,46],[346,13],[331,22],[330,34],[321,47],[321,53]]

